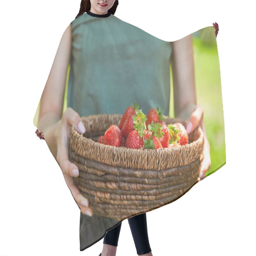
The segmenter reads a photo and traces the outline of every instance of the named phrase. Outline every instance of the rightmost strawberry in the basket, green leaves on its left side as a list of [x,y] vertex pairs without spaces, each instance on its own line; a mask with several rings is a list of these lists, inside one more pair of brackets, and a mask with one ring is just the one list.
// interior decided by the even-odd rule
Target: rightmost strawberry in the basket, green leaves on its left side
[[179,143],[180,146],[188,144],[188,133],[182,124],[168,124],[168,128],[170,129],[170,144],[173,141]]

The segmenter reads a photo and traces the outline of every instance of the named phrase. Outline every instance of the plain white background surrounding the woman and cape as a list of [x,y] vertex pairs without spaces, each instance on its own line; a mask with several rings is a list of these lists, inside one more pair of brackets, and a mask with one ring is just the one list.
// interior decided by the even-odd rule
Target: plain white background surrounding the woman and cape
[[[120,0],[116,16],[175,41],[219,24],[227,164],[147,213],[156,255],[255,255],[255,29],[252,1]],[[80,211],[33,118],[60,38],[80,0],[1,2],[0,255],[80,252]],[[118,255],[137,255],[123,221]]]

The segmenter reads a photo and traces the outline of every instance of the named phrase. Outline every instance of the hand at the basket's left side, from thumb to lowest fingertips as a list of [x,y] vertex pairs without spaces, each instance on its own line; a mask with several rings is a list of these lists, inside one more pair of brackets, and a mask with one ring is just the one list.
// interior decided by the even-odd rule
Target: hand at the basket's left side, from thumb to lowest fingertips
[[69,161],[69,129],[73,125],[77,132],[83,134],[85,132],[84,125],[80,116],[72,108],[67,108],[62,115],[60,125],[57,132],[57,162],[63,172],[64,179],[70,189],[78,207],[85,215],[92,216],[92,209],[88,207],[89,201],[82,196],[76,185],[73,177],[79,176],[77,166]]

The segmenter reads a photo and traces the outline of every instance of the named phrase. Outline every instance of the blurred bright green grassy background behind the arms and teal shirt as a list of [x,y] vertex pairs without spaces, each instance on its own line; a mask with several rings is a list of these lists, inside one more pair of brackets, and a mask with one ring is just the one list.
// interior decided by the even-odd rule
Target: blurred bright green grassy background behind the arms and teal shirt
[[[211,148],[211,168],[206,176],[220,169],[226,163],[225,132],[220,83],[220,63],[215,29],[206,27],[193,33],[195,83],[197,104],[204,109],[204,123]],[[68,66],[63,112],[67,108],[67,91],[70,65]],[[174,117],[172,64],[170,66],[171,93],[169,116]],[[39,108],[34,124],[37,126]]]

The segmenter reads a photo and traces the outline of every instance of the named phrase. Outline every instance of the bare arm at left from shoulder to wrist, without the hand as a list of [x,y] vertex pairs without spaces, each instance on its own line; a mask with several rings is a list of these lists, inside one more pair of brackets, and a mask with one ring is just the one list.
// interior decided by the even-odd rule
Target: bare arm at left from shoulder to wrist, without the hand
[[44,132],[52,155],[57,158],[57,128],[63,112],[68,64],[71,54],[71,25],[63,33],[41,97],[38,129]]

